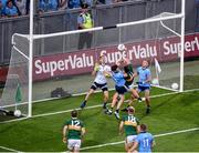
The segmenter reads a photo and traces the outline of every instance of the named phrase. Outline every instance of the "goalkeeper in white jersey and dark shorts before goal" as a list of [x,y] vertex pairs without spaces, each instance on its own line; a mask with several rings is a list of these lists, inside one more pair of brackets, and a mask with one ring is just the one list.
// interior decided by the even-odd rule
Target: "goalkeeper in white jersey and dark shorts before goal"
[[106,80],[106,75],[104,74],[104,71],[109,72],[111,71],[111,67],[105,64],[105,58],[102,54],[100,57],[100,61],[98,63],[95,63],[95,68],[92,72],[92,75],[95,75],[95,80],[90,89],[90,91],[87,92],[84,101],[81,104],[81,109],[84,109],[86,106],[87,100],[90,98],[91,94],[94,93],[94,91],[96,89],[101,89],[104,93],[104,104],[103,104],[103,109],[106,110],[107,106],[107,101],[108,101],[108,88],[107,88],[107,80]]

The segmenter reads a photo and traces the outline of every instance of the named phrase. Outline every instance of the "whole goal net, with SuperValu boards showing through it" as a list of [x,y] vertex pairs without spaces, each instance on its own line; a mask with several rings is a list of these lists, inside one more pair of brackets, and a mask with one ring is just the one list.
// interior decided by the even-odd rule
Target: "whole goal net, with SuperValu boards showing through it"
[[[180,76],[184,75],[180,70],[181,18],[181,14],[164,12],[115,27],[33,35],[32,103],[85,94],[94,81],[91,72],[102,53],[109,65],[129,58],[134,71],[147,60],[154,93],[178,92],[182,89]],[[19,109],[27,115],[29,37],[14,34],[12,39],[12,54],[0,108]],[[121,43],[126,47],[123,52],[117,50]],[[108,88],[114,89],[113,80],[107,80]],[[52,113],[53,108],[49,112]],[[33,106],[33,115],[42,113],[46,112]]]

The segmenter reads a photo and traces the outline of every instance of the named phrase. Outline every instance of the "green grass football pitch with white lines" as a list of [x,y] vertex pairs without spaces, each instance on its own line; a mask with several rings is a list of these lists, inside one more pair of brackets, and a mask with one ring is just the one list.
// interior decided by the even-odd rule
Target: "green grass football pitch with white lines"
[[[158,94],[165,95],[156,96]],[[70,119],[71,110],[78,108],[83,99],[84,95],[80,95],[34,103],[32,119],[0,123],[0,151],[66,151],[62,142],[62,126]],[[153,88],[151,113],[145,114],[144,102],[135,102],[135,115],[155,135],[155,152],[199,152],[199,91],[174,93]],[[118,135],[119,121],[114,115],[104,114],[102,93],[91,96],[87,108],[80,111],[80,119],[86,128],[82,151],[125,151],[125,136]]]

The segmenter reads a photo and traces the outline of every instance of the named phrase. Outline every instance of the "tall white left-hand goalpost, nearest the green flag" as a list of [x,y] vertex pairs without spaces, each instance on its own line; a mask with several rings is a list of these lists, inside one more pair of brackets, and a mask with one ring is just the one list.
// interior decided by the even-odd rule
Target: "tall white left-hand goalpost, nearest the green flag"
[[29,31],[29,106],[28,118],[32,116],[32,59],[33,59],[33,6],[34,0],[30,0],[30,31]]

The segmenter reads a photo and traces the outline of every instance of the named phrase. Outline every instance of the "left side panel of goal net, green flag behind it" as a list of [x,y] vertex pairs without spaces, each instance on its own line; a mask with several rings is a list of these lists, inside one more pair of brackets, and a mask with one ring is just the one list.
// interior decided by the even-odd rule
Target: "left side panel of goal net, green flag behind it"
[[15,37],[13,43],[0,108],[12,112],[20,110],[21,114],[27,116],[29,96],[29,41],[28,39]]

